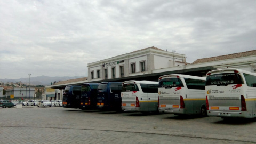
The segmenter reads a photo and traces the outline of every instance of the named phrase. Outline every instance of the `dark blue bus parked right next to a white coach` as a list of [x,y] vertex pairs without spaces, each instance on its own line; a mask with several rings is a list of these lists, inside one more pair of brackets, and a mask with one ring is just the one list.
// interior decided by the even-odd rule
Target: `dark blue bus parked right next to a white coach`
[[121,111],[122,82],[102,82],[97,90],[97,107],[100,110]]

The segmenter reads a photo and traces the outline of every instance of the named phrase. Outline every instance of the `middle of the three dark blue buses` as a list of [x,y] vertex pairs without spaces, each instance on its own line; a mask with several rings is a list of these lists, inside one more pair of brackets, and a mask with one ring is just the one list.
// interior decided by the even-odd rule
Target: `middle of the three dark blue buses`
[[85,83],[81,86],[80,109],[97,109],[97,83]]

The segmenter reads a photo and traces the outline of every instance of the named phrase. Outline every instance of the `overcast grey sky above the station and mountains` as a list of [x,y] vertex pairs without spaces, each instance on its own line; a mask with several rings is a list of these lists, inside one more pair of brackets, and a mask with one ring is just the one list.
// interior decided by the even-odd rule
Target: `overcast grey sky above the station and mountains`
[[87,76],[155,46],[186,61],[256,48],[256,1],[0,0],[0,78]]

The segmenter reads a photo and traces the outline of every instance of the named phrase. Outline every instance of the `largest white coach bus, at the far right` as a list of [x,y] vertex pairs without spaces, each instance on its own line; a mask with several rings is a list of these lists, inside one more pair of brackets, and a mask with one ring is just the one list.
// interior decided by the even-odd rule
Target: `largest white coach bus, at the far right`
[[206,74],[209,116],[256,117],[256,74],[241,69],[218,69]]

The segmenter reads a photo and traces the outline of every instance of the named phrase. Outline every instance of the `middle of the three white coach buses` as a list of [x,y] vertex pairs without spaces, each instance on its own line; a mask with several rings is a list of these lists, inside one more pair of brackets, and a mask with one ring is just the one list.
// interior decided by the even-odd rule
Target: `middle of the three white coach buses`
[[159,112],[207,116],[205,77],[164,75],[159,77]]

